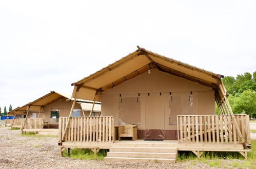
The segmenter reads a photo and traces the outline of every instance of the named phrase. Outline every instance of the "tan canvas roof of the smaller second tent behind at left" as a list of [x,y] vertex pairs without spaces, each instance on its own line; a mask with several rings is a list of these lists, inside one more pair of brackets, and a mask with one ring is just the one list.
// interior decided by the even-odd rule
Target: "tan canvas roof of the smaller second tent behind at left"
[[46,105],[49,105],[49,104],[53,103],[54,101],[61,99],[62,97],[71,99],[71,96],[51,91],[50,93],[32,101],[32,102],[29,102],[29,103],[23,105],[22,107],[17,107],[16,109],[8,112],[8,114],[24,114],[24,112],[27,110],[28,107],[30,107],[29,111],[40,111],[41,107],[45,107]]

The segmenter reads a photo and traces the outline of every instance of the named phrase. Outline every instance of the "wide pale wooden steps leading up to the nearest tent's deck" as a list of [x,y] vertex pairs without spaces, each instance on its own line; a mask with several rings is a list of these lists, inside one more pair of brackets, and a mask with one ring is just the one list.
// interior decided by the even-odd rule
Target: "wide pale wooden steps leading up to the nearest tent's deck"
[[176,147],[159,143],[115,143],[110,147],[105,161],[167,162],[175,163]]

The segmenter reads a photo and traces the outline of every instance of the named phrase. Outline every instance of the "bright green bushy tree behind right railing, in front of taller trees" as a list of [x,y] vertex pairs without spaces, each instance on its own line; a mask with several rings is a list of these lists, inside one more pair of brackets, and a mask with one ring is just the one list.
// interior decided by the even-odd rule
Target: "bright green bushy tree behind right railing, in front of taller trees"
[[[233,99],[233,100],[232,100]],[[246,90],[238,97],[229,98],[231,107],[235,114],[241,114],[245,112],[252,118],[256,115],[256,92],[252,90]]]

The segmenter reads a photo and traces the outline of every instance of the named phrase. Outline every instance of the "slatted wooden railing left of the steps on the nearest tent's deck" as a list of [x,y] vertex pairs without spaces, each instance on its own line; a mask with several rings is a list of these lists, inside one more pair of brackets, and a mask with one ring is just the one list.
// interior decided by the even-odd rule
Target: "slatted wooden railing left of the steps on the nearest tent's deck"
[[[64,134],[68,117],[58,123],[59,141]],[[113,142],[114,117],[71,117],[63,142]]]

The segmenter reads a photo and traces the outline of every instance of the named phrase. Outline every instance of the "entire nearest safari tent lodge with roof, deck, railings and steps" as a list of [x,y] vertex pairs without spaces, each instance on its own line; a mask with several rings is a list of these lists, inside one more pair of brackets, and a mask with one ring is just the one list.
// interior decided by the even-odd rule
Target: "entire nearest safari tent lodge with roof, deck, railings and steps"
[[247,158],[249,117],[233,114],[223,77],[138,47],[72,83],[73,105],[77,99],[99,101],[101,116],[62,117],[60,152],[109,149],[108,161],[175,162],[178,151],[198,157],[240,152]]

